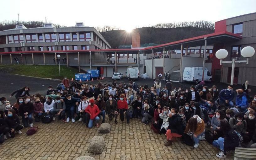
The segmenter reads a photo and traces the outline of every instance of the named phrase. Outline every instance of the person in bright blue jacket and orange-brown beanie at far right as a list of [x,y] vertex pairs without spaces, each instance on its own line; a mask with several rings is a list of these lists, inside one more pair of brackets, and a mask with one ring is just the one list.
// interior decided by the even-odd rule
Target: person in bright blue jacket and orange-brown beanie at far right
[[243,92],[243,89],[237,89],[237,98],[236,98],[236,108],[241,109],[241,111],[245,111],[248,103],[247,103],[247,93]]

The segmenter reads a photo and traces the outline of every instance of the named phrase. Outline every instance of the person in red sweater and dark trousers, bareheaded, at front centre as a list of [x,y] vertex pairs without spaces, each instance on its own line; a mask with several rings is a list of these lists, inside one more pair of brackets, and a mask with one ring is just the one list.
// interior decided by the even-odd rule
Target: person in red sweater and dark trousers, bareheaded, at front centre
[[117,109],[120,114],[120,120],[124,121],[124,115],[126,115],[127,123],[130,123],[130,115],[126,114],[126,111],[128,110],[128,104],[125,101],[125,96],[123,94],[120,95],[120,100],[117,102]]

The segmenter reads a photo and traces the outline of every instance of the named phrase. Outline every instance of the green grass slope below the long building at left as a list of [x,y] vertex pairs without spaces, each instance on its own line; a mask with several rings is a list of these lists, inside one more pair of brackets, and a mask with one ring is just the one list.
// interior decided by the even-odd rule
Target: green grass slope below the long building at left
[[0,65],[1,71],[7,71],[12,74],[19,74],[25,76],[41,77],[41,78],[52,78],[52,79],[63,79],[67,76],[68,79],[75,78],[75,73],[79,73],[77,69],[60,66],[61,76],[59,76],[59,66],[44,66],[44,65]]

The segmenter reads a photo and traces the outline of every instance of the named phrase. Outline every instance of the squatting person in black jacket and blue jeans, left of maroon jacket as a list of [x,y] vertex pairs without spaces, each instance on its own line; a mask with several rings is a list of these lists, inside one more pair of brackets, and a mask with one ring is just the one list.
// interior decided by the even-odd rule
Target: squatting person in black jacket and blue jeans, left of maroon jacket
[[30,102],[29,96],[24,96],[24,103],[19,106],[19,115],[22,117],[22,122],[24,127],[28,127],[28,122],[30,127],[33,127],[33,110],[34,106]]

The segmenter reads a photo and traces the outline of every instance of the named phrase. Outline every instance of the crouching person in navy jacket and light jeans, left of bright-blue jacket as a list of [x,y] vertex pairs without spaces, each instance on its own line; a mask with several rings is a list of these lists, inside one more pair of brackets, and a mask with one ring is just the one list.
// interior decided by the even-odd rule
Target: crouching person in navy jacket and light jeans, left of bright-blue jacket
[[227,89],[222,89],[219,94],[220,104],[225,104],[229,108],[234,107],[232,100],[234,99],[235,94],[232,89],[233,89],[233,85],[229,84],[227,86]]

